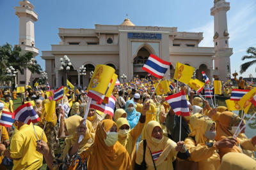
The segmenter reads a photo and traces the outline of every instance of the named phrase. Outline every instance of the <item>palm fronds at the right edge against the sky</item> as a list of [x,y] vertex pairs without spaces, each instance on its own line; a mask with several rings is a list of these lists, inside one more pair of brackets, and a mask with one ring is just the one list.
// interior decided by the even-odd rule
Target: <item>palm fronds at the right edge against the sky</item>
[[[244,73],[248,69],[248,67],[252,66],[253,64],[256,64],[256,48],[251,46],[246,50],[246,53],[248,53],[250,55],[244,55],[242,57],[242,60],[245,60],[245,59],[253,59],[253,60],[244,62],[244,64],[242,64],[240,66],[241,74]],[[256,71],[256,69],[255,69],[255,71]]]

